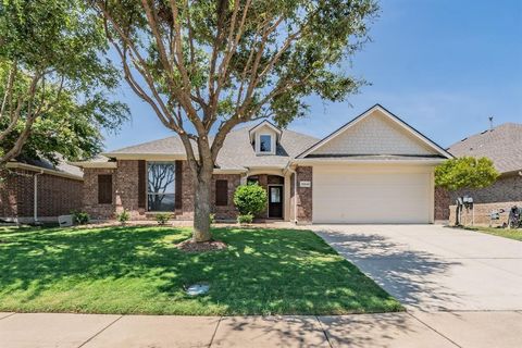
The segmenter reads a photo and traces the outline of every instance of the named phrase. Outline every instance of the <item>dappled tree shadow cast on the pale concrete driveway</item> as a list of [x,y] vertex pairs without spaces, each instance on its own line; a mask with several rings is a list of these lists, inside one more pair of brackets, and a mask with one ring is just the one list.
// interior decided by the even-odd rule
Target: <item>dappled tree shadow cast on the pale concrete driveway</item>
[[448,303],[463,304],[459,294],[439,282],[452,266],[461,265],[456,260],[411,250],[406,244],[378,234],[333,229],[318,234],[410,309],[446,310]]

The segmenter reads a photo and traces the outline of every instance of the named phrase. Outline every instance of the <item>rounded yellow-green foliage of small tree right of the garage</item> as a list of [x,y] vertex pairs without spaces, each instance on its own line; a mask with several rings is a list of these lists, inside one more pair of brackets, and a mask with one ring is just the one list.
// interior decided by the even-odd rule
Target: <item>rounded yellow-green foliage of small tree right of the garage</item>
[[484,188],[495,183],[498,176],[488,158],[462,157],[447,160],[435,169],[435,185],[450,191]]

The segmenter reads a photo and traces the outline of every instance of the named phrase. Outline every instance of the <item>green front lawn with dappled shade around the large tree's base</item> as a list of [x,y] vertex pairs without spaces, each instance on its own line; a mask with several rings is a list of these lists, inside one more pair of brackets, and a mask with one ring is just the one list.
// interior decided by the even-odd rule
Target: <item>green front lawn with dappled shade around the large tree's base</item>
[[[186,253],[187,228],[1,228],[0,311],[345,314],[402,307],[309,231],[216,228],[228,249]],[[184,287],[210,284],[200,297]]]

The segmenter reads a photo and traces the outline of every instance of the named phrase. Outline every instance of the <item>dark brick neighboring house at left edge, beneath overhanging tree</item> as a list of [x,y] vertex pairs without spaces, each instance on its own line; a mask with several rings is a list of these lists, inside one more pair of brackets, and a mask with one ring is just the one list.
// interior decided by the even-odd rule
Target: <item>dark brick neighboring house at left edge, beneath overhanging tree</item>
[[63,160],[18,159],[1,176],[0,221],[55,222],[82,208],[82,170]]

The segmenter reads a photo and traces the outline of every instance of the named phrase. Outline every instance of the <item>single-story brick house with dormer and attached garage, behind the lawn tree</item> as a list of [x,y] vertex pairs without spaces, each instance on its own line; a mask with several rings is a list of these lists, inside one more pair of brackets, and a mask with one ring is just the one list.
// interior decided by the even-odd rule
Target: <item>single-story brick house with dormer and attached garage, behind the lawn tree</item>
[[[171,212],[190,220],[194,187],[178,137],[75,163],[84,169],[84,210],[94,219]],[[268,121],[232,132],[213,175],[212,209],[237,215],[236,187],[268,190],[260,217],[296,223],[432,223],[434,167],[447,151],[376,104],[323,139]]]

